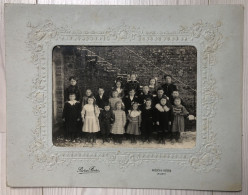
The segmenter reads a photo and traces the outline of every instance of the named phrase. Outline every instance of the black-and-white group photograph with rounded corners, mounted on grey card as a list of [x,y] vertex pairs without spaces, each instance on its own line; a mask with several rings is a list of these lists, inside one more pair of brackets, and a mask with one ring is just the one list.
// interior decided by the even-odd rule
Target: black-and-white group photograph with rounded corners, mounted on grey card
[[193,148],[194,46],[55,46],[53,144]]

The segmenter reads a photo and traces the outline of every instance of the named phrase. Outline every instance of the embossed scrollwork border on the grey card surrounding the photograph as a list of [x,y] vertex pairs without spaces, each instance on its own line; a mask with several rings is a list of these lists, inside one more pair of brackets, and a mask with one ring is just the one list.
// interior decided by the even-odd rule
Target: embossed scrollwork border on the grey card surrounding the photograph
[[[216,143],[216,134],[212,127],[216,115],[216,104],[220,99],[217,93],[216,80],[213,75],[213,66],[216,65],[217,51],[222,45],[222,34],[220,32],[221,22],[211,24],[199,21],[191,26],[181,26],[175,32],[144,31],[136,26],[125,23],[109,27],[103,31],[72,31],[70,27],[57,27],[48,20],[42,24],[28,24],[30,32],[27,37],[27,48],[30,51],[33,65],[37,71],[33,78],[31,89],[31,100],[33,102],[33,113],[36,117],[36,125],[32,130],[33,141],[29,144],[29,156],[33,167],[43,169],[54,169],[56,166],[67,166],[72,161],[105,162],[107,165],[119,166],[123,170],[128,166],[138,166],[144,162],[166,161],[175,162],[182,167],[191,167],[195,171],[209,172],[215,170],[221,159],[221,149]],[[55,147],[48,144],[48,67],[47,56],[52,51],[47,51],[47,46],[53,42],[70,41],[78,44],[80,41],[90,43],[108,42],[132,42],[132,43],[156,43],[164,45],[170,43],[200,44],[198,55],[198,74],[201,74],[201,83],[198,91],[201,94],[201,124],[198,127],[200,137],[199,147],[191,153],[176,152],[169,150],[164,152],[139,151],[97,151],[89,152],[85,149],[80,151],[57,151]],[[82,43],[81,42],[81,43]],[[161,151],[161,150],[159,150]]]

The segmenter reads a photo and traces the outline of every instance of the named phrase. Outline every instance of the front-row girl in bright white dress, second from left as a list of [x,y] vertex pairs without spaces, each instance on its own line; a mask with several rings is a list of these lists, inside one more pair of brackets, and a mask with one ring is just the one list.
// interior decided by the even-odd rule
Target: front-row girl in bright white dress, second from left
[[98,106],[95,105],[95,99],[92,96],[88,97],[88,104],[84,105],[81,114],[84,122],[83,132],[88,134],[86,142],[93,144],[96,142],[95,133],[100,130],[98,120],[100,110]]

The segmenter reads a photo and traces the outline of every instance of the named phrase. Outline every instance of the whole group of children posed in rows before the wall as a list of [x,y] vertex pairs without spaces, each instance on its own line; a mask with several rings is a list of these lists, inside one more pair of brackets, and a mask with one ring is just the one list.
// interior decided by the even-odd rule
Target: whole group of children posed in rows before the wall
[[98,88],[96,96],[87,89],[81,97],[76,79],[70,77],[63,110],[66,138],[75,142],[79,133],[84,132],[85,141],[93,144],[96,133],[101,132],[103,143],[110,142],[110,135],[114,143],[122,143],[124,137],[131,143],[136,143],[138,137],[150,142],[155,131],[158,143],[165,144],[166,139],[172,143],[182,142],[180,133],[184,131],[184,118],[189,113],[171,76],[166,75],[165,79],[159,88],[155,78],[141,88],[136,75],[132,74],[124,87],[121,80],[115,82],[111,97],[105,94],[103,87]]

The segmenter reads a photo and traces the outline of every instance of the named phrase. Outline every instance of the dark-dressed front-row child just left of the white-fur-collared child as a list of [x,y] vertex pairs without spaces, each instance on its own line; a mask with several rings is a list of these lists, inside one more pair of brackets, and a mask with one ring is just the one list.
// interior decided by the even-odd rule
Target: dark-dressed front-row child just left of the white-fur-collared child
[[153,130],[154,110],[152,108],[152,100],[147,98],[141,112],[141,135],[143,142],[150,142],[151,132]]

